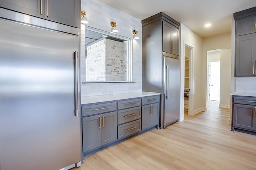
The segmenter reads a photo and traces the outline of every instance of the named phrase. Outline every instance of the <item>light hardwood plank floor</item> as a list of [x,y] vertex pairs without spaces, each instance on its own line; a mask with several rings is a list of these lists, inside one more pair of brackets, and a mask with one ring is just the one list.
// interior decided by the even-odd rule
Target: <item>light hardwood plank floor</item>
[[207,111],[101,150],[72,170],[255,170],[256,136],[230,131],[229,109]]

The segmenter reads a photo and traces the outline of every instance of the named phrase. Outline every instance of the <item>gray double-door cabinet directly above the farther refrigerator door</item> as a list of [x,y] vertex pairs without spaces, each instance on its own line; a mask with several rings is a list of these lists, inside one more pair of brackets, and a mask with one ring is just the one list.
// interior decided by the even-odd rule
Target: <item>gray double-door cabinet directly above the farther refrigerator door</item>
[[163,21],[163,51],[179,55],[179,29]]

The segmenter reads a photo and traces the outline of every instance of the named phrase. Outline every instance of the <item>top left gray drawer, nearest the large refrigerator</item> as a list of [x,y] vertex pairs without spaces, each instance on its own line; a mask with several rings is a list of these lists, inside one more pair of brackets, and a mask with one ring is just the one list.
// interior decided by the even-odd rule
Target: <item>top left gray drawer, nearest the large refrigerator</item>
[[83,106],[82,116],[94,115],[98,113],[105,113],[105,112],[115,111],[115,110],[116,110],[116,102]]

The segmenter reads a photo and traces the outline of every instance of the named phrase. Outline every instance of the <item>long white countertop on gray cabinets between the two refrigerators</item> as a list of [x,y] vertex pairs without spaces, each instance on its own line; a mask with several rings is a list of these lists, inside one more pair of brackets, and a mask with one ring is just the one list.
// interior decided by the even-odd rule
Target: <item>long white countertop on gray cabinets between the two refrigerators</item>
[[160,95],[160,93],[154,92],[132,92],[132,93],[121,93],[121,94],[107,94],[99,96],[86,96],[81,97],[81,104],[92,104],[98,102],[108,102],[114,100],[123,100],[130,98],[141,98],[146,96]]

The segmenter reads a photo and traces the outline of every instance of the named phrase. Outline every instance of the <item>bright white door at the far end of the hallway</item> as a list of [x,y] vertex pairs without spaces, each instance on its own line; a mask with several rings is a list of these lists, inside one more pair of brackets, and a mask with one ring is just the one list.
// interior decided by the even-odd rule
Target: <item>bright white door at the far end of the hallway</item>
[[220,101],[220,61],[209,63],[209,100]]

